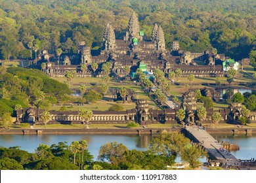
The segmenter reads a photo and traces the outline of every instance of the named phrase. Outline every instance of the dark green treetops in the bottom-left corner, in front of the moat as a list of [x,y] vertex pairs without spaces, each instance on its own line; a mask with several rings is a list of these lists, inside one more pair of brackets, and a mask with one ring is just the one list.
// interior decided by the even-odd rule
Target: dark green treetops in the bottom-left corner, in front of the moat
[[20,150],[19,147],[0,148],[1,170],[75,170],[79,169],[81,163],[88,164],[91,161],[93,161],[93,156],[86,149],[83,150],[83,162],[78,159],[78,162],[74,164],[72,151],[66,142],[51,146],[40,144],[34,153]]

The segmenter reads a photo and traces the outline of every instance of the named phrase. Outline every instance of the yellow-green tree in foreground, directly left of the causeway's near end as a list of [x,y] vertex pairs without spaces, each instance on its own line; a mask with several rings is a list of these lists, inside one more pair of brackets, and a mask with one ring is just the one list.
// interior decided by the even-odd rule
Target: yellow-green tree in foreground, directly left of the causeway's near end
[[197,144],[186,144],[181,150],[182,161],[187,161],[192,169],[199,167],[199,158],[204,156],[207,156],[207,152]]

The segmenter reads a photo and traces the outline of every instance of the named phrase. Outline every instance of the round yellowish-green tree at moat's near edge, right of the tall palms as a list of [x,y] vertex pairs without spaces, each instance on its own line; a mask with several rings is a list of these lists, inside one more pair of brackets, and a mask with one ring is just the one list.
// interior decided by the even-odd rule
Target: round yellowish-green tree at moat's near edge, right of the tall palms
[[117,142],[108,142],[100,147],[98,159],[100,161],[110,161],[113,165],[125,162],[125,152],[127,147]]

